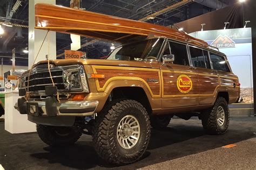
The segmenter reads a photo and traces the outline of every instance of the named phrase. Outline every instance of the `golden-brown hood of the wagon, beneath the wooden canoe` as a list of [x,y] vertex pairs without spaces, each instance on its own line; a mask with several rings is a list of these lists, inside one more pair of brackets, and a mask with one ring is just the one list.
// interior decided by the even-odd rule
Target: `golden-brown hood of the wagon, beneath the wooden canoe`
[[[36,65],[48,63],[47,60],[39,61]],[[100,66],[123,66],[123,67],[142,67],[142,68],[159,68],[157,61],[124,61],[124,60],[102,60],[102,59],[81,59],[81,60],[50,60],[56,66],[64,65],[100,65]],[[33,67],[35,67],[34,65]]]

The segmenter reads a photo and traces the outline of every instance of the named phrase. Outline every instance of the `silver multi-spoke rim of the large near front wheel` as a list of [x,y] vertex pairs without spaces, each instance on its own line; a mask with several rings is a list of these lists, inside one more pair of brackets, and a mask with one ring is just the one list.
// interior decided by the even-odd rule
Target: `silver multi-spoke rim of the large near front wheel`
[[117,126],[117,140],[120,146],[125,149],[134,147],[140,135],[140,125],[136,117],[126,115]]

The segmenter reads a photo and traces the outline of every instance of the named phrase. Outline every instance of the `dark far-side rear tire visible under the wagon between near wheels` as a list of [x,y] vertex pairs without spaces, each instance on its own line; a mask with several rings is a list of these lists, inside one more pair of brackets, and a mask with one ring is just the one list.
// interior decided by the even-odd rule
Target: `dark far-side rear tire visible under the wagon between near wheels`
[[154,129],[164,129],[169,125],[172,117],[173,117],[172,115],[151,116],[150,117],[151,126]]

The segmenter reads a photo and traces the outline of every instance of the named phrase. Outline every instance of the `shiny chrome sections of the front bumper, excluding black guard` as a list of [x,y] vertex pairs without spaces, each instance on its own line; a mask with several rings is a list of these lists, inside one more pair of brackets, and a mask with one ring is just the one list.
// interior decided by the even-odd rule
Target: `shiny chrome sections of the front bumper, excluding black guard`
[[[25,107],[26,114],[34,115],[36,112],[36,105],[38,104],[38,112],[40,116],[47,116],[45,101],[26,101],[22,107]],[[58,116],[90,116],[95,113],[98,106],[98,101],[68,101],[63,103],[56,103]],[[15,104],[15,109],[21,110],[18,107],[18,103]],[[30,108],[28,108],[30,107]],[[38,113],[37,113],[38,114]],[[39,116],[36,115],[36,116]],[[56,116],[57,116],[56,115]]]

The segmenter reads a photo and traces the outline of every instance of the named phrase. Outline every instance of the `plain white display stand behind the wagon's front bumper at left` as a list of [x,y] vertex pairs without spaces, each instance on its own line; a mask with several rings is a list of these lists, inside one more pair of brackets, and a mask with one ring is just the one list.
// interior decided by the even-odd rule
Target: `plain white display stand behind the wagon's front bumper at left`
[[18,91],[3,93],[5,94],[5,130],[10,133],[36,132],[36,124],[28,121],[28,115],[21,115],[14,108],[19,97]]

